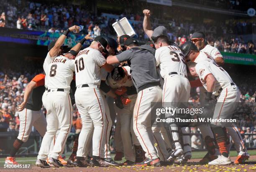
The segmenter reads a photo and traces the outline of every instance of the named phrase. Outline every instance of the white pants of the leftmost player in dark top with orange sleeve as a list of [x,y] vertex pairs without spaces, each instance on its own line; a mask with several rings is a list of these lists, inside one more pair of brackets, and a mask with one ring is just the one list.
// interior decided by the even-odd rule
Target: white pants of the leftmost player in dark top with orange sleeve
[[32,126],[36,128],[41,137],[44,137],[47,122],[44,114],[40,110],[34,111],[25,108],[23,111],[18,112],[18,114],[20,118],[20,131],[17,138],[19,140],[22,142],[28,140]]

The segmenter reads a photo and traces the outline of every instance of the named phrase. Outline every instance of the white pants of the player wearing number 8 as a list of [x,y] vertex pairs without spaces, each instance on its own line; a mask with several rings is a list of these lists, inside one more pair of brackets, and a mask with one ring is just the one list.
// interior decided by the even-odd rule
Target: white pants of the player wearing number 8
[[[68,92],[55,91],[44,94],[43,103],[47,110],[47,131],[41,143],[38,159],[46,160],[48,155],[58,159],[64,151],[71,130],[73,117],[71,99]],[[59,128],[59,135],[56,137],[54,148],[50,152],[51,142]]]

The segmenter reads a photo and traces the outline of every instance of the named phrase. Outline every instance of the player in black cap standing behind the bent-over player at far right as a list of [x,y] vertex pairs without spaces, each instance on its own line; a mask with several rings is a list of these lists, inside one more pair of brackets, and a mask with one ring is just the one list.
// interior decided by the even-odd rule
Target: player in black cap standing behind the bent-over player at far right
[[[206,52],[207,56],[210,56],[212,58],[212,60],[210,60],[211,62],[216,62],[218,65],[224,64],[223,56],[221,55],[220,51],[217,48],[206,44],[204,32],[197,31],[197,32],[193,33],[192,42],[197,46],[198,50],[200,50],[202,52]],[[202,59],[196,58],[195,62],[198,62],[199,60],[202,60]],[[207,59],[207,60],[209,60],[209,59]],[[194,81],[194,83],[195,82],[196,81]],[[203,87],[200,87],[200,102],[202,104],[204,104],[205,92],[206,92],[206,90]],[[236,125],[233,124],[232,127],[227,127],[226,129],[227,129],[228,133],[230,134],[230,136],[233,138],[236,151],[238,152],[238,157],[235,160],[234,164],[244,163],[245,160],[249,159],[250,155],[248,154],[247,149],[243,144],[243,141],[242,141],[243,139],[242,139],[241,135],[238,134],[239,133],[238,128],[236,127]],[[202,130],[204,131],[204,135],[202,134],[203,137],[208,138],[208,139],[206,139],[206,142],[207,142],[207,140],[210,140],[208,137],[209,135],[206,135],[207,134],[206,132],[209,130],[208,130],[208,128],[205,128],[205,127]],[[208,159],[209,159],[209,156],[206,155],[201,160],[201,162],[207,162]]]

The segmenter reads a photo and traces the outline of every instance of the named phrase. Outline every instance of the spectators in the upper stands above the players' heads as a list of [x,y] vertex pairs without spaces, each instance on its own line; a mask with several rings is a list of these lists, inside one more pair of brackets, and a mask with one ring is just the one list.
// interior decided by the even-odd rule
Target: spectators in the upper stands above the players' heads
[[[68,28],[71,24],[83,25],[83,32],[94,31],[95,35],[115,35],[112,24],[115,18],[109,18],[104,15],[95,15],[89,12],[86,8],[78,5],[46,5],[36,2],[21,2],[11,3],[13,1],[3,0],[0,7],[2,14],[0,17],[0,27],[13,27],[26,30],[43,30],[48,32],[63,32],[63,29]],[[232,3],[231,3],[232,4]],[[183,9],[184,11],[184,9]],[[180,11],[179,12],[183,12]],[[0,11],[1,12],[1,11]],[[235,36],[241,34],[251,34],[256,23],[251,21],[236,21],[230,20],[217,21],[216,23],[194,23],[186,21],[179,17],[178,11],[173,10],[175,18],[172,20],[159,20],[157,17],[152,17],[152,25],[156,27],[161,23],[165,25],[169,31],[170,40],[177,45],[182,45],[190,39],[192,33],[196,30],[202,30],[207,35],[208,44],[217,47],[224,52],[249,53],[256,54],[256,42],[245,42],[242,37]],[[186,12],[186,11],[184,11]],[[136,30],[138,39],[141,41],[148,40],[148,37],[143,31],[143,16],[142,14],[132,14],[126,10],[125,14],[119,15],[119,18],[127,17],[132,22],[133,28]],[[233,36],[230,36],[233,35]]]

